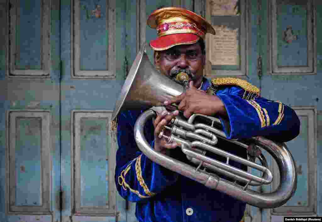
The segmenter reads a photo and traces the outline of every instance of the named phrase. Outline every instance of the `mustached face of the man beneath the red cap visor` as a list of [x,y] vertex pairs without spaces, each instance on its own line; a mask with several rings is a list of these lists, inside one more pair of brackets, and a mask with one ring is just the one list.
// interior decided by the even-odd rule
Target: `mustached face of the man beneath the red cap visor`
[[175,73],[184,71],[192,75],[194,86],[199,87],[202,82],[205,65],[205,55],[200,44],[177,45],[170,49],[160,51],[159,59],[155,59],[155,64],[165,75],[172,76]]

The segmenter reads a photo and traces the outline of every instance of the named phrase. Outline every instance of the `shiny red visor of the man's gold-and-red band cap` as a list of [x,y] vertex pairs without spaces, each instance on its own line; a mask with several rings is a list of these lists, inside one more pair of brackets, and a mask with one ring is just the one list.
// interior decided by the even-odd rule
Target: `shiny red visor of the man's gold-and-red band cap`
[[150,46],[156,51],[170,49],[176,45],[194,44],[200,39],[199,36],[192,33],[178,33],[158,37],[150,41]]

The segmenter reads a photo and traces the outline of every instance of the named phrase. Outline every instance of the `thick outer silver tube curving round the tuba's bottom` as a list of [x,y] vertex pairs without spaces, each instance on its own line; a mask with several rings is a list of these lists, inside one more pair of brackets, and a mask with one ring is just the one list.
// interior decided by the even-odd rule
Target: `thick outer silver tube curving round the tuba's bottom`
[[[260,193],[247,188],[248,184],[246,184],[246,186],[241,186],[237,183],[220,178],[213,173],[198,171],[189,164],[185,164],[170,156],[156,152],[152,147],[150,147],[143,132],[143,128],[147,120],[154,118],[155,116],[155,111],[149,109],[139,116],[134,126],[134,136],[137,146],[151,161],[194,181],[200,182],[210,189],[221,191],[238,200],[259,208],[280,207],[295,193],[297,187],[295,163],[291,153],[284,143],[276,143],[264,137],[255,137],[251,139],[252,143],[264,148],[270,155],[272,155],[278,165],[280,173],[278,188],[270,193]],[[225,138],[223,133],[221,133],[220,137]],[[241,142],[238,141],[238,143]],[[243,145],[243,147],[247,147],[247,145]],[[184,153],[191,152],[191,149],[188,149],[187,145],[184,143],[182,143],[181,148]],[[191,155],[195,155],[194,157],[196,158],[202,156],[198,153],[189,154],[189,156]]]

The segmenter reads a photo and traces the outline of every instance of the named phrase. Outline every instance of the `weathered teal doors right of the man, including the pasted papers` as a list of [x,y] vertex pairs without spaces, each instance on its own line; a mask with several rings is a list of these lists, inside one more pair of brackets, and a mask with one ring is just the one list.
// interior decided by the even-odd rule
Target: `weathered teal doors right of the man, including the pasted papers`
[[[238,6],[236,12],[232,10],[234,3]],[[202,9],[201,14],[204,13],[218,31],[217,37],[207,38],[205,75],[245,79],[260,88],[262,96],[292,107],[301,121],[300,135],[287,143],[297,165],[295,195],[276,209],[248,206],[245,221],[282,221],[284,216],[321,216],[319,159],[322,156],[318,131],[321,125],[320,7],[319,2],[301,0],[206,0],[195,4],[195,10]],[[222,29],[226,31],[226,36],[220,34]],[[237,39],[237,42],[227,37],[233,37],[232,40]],[[222,40],[230,45],[219,47],[225,45]],[[237,62],[231,63],[225,59],[235,59]],[[259,192],[271,192],[279,184],[276,163],[271,158],[268,160],[274,172],[274,182],[254,188]]]

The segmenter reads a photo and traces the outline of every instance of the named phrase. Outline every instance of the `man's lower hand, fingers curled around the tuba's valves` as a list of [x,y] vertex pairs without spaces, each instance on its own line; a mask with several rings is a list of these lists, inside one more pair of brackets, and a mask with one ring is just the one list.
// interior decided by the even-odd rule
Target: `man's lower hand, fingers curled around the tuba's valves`
[[175,118],[179,114],[178,110],[168,112],[166,110],[162,111],[161,113],[157,113],[157,117],[153,122],[154,125],[154,150],[157,152],[161,152],[166,154],[166,151],[169,149],[174,149],[178,146],[177,143],[168,143],[167,139],[159,138],[159,134],[162,130],[164,130],[164,134],[166,136],[170,136],[169,130],[165,130],[164,126],[169,124],[170,121]]

